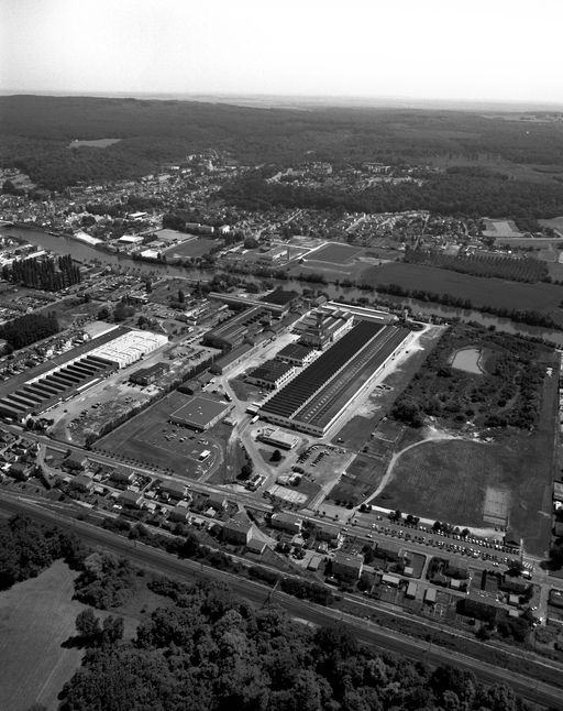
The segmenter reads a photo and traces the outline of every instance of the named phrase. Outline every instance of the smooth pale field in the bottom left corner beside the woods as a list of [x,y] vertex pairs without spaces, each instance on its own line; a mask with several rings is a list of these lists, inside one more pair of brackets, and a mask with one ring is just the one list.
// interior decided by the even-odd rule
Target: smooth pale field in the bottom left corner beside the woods
[[85,605],[73,600],[75,575],[62,561],[0,593],[0,709],[58,708],[57,693],[82,652],[62,646]]

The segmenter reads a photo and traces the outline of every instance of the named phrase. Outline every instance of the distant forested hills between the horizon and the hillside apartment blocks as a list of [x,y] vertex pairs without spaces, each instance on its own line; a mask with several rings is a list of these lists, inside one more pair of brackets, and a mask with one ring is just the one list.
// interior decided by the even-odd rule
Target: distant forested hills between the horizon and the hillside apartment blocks
[[[121,140],[103,150],[68,150],[74,139],[107,138]],[[424,164],[437,156],[446,162],[485,156],[523,164],[548,184],[563,179],[561,122],[522,124],[444,110],[0,97],[0,164],[20,167],[52,189],[80,179],[139,177],[205,149],[229,151],[250,165],[303,160]]]

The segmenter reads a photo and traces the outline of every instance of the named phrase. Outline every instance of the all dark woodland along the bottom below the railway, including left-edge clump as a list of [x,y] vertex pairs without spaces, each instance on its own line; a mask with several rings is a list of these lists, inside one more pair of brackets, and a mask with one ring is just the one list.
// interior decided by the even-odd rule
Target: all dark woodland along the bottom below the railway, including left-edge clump
[[[57,558],[80,571],[77,599],[101,609],[130,600],[139,571],[76,536],[16,515],[0,523],[0,589]],[[144,583],[143,583],[144,584]],[[525,711],[505,686],[429,669],[357,644],[345,625],[297,625],[277,608],[255,610],[225,586],[152,578],[163,604],[122,642],[123,621],[91,609],[76,620],[88,649],[65,686],[62,711]],[[109,592],[108,592],[109,590]]]

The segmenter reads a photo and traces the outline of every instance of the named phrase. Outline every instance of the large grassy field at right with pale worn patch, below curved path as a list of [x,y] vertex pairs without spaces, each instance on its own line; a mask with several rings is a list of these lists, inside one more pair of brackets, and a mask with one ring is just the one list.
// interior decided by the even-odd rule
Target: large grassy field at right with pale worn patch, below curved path
[[412,447],[398,458],[389,483],[374,503],[455,525],[484,527],[492,525],[490,506],[496,499],[503,517],[508,508],[509,527],[525,539],[526,550],[545,555],[553,461],[550,415],[555,392],[550,385],[544,383],[542,413],[533,434],[506,435],[488,444],[449,440]]

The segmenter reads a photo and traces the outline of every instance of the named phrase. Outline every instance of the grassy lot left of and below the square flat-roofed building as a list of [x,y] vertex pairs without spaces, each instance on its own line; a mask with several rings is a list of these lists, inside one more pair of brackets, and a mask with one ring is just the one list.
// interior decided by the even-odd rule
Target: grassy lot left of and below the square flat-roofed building
[[[141,466],[172,469],[180,475],[199,478],[221,459],[222,452],[209,433],[195,433],[168,423],[168,416],[189,400],[189,395],[173,392],[102,437],[95,449],[112,452]],[[203,449],[211,450],[211,455],[201,463],[198,457]]]

